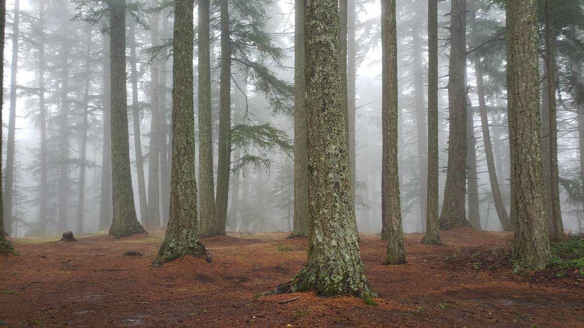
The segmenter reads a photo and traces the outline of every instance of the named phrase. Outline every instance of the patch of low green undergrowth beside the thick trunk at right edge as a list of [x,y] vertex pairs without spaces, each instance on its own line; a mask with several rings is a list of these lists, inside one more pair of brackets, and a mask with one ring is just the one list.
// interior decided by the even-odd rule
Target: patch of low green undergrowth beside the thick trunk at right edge
[[551,260],[548,268],[552,270],[576,269],[584,271],[584,238],[569,236],[565,242],[551,244]]

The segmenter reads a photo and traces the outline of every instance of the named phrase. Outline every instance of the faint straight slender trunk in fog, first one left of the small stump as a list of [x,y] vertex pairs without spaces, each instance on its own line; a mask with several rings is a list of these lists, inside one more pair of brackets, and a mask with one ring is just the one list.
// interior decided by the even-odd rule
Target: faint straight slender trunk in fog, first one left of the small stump
[[47,233],[47,109],[44,100],[44,3],[39,0],[39,132],[40,132],[40,197],[39,225],[40,234]]

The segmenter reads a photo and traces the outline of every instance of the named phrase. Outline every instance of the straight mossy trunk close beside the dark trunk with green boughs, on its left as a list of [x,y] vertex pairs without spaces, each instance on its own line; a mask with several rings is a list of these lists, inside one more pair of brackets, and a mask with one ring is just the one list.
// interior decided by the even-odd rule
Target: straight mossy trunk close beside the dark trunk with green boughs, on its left
[[197,54],[199,55],[199,191],[201,235],[210,235],[215,225],[209,15],[209,0],[199,0],[199,43]]

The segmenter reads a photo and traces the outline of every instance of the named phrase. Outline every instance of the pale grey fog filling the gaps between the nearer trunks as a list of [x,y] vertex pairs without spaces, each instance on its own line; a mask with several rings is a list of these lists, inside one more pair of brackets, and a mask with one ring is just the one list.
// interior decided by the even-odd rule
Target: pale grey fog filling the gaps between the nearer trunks
[[[467,5],[466,213],[474,228],[502,231],[509,215],[510,156],[505,80],[505,8]],[[237,2],[239,4],[239,2]],[[380,2],[349,2],[347,89],[352,188],[359,231],[381,232],[382,79]],[[98,232],[112,219],[110,31],[91,1],[9,0],[4,62],[4,222],[11,236]],[[135,211],[144,226],[169,219],[172,162],[173,9],[166,2],[128,5],[126,97]],[[439,206],[449,148],[449,2],[439,2]],[[194,11],[194,117],[199,173],[197,8]],[[426,1],[397,1],[398,164],[404,232],[426,231],[428,35]],[[294,4],[244,1],[232,8],[231,124],[219,159],[221,41],[218,6],[210,11],[213,183],[227,195],[227,231],[294,228]],[[555,68],[559,200],[566,232],[584,232],[581,191],[582,68],[558,36]],[[481,58],[477,69],[475,55]],[[540,75],[546,65],[540,58]],[[480,75],[480,83],[478,81]],[[542,117],[550,97],[541,83]],[[354,96],[353,93],[354,88]],[[547,116],[545,116],[547,114]],[[484,128],[488,127],[489,141]],[[547,130],[545,130],[547,128]],[[227,130],[226,130],[227,131]],[[549,144],[550,126],[542,125]],[[485,149],[489,142],[489,150]],[[490,162],[490,163],[489,163]],[[544,156],[544,169],[545,169]],[[218,166],[221,165],[221,168]],[[489,172],[490,171],[490,172]],[[493,174],[494,173],[494,174]],[[225,181],[224,177],[228,176]],[[545,175],[544,177],[548,177]],[[493,181],[493,177],[496,181]],[[546,179],[546,183],[548,183]],[[199,179],[197,179],[199,183]],[[496,186],[497,191],[493,192]],[[551,188],[551,186],[546,186]],[[225,189],[227,188],[227,189]],[[197,185],[197,189],[201,189]],[[200,194],[199,194],[200,196]],[[551,197],[551,196],[550,196]],[[551,200],[548,200],[551,202]],[[199,210],[204,206],[199,205]],[[551,206],[550,206],[551,208]],[[219,210],[217,210],[219,211]],[[472,216],[472,218],[471,218]],[[508,217],[507,217],[508,219]],[[476,226],[475,226],[476,225]]]

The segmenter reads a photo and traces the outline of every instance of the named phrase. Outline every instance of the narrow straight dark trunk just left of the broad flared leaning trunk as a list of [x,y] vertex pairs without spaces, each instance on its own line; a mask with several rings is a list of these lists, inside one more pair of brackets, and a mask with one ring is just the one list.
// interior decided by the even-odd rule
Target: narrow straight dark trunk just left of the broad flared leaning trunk
[[428,0],[428,185],[426,235],[422,243],[439,244],[438,217],[438,0]]

